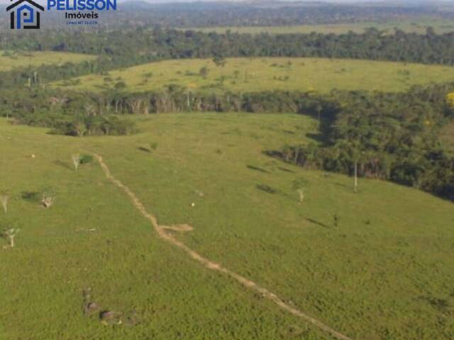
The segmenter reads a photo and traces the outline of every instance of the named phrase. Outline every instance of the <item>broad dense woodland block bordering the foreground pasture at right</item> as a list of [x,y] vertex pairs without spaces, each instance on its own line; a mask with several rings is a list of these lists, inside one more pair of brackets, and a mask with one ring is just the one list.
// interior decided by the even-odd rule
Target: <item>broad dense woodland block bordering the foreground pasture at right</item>
[[304,110],[319,117],[317,142],[268,153],[308,169],[387,179],[454,200],[454,157],[439,139],[454,118],[453,93],[454,83],[404,94],[333,92]]

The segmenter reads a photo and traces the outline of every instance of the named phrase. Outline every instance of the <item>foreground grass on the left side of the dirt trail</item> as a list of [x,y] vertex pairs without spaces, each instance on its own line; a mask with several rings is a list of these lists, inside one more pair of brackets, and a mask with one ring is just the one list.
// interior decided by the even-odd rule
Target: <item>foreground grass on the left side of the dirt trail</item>
[[[0,271],[8,273],[0,278],[0,339],[271,340],[294,331],[323,339],[157,239],[97,164],[72,169],[72,153],[104,151],[121,138],[77,140],[0,124],[0,187],[11,195],[0,225],[21,228],[14,249],[2,250],[0,239]],[[136,138],[126,141],[140,159]],[[43,188],[55,192],[48,210],[22,198]],[[103,310],[136,315],[138,324],[106,327],[85,316],[88,288]]]

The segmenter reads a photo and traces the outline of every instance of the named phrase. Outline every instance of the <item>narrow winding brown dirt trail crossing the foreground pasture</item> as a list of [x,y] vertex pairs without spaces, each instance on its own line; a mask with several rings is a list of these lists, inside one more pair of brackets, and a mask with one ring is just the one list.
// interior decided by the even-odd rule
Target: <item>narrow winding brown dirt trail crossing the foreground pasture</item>
[[[338,331],[332,329],[331,327],[327,326],[326,324],[323,324],[323,322],[320,322],[317,319],[314,319],[314,317],[310,317],[307,314],[304,314],[304,312],[301,312],[300,310],[297,310],[297,308],[292,307],[290,305],[287,305],[280,297],[275,295],[274,293],[271,293],[270,290],[267,290],[266,288],[260,287],[257,283],[248,280],[247,278],[240,276],[239,274],[228,270],[227,268],[224,268],[221,266],[219,263],[210,261],[209,259],[205,259],[203,256],[200,254],[196,253],[196,251],[193,251],[190,249],[188,246],[183,244],[182,242],[179,242],[177,239],[172,237],[170,234],[167,234],[165,232],[165,229],[173,229],[167,226],[160,226],[159,223],[157,222],[157,218],[150,213],[147,212],[145,209],[144,205],[140,202],[137,196],[135,196],[135,193],[131,191],[130,188],[125,186],[121,181],[118,181],[114,176],[112,176],[111,171],[109,170],[109,167],[104,163],[103,159],[101,156],[98,154],[94,154],[94,157],[97,159],[99,164],[101,165],[101,168],[104,171],[104,174],[106,174],[106,178],[109,179],[112,183],[114,183],[118,188],[121,188],[128,196],[131,198],[131,201],[133,202],[133,205],[135,208],[137,208],[140,213],[148,218],[150,220],[151,224],[155,228],[157,234],[159,237],[162,239],[165,239],[165,241],[169,242],[170,244],[177,246],[179,249],[182,249],[185,251],[189,256],[192,257],[192,259],[199,261],[202,265],[204,265],[206,268],[209,268],[214,271],[220,271],[221,273],[224,273],[231,278],[234,278],[237,280],[239,283],[244,285],[246,288],[249,288],[250,290],[254,290],[257,293],[260,293],[263,297],[267,298],[268,300],[271,300],[272,302],[275,302],[276,305],[282,308],[282,310],[286,310],[287,312],[304,319],[304,321],[309,322],[310,324],[313,324],[315,327],[321,329],[322,331],[326,331],[326,333],[331,334],[331,336],[334,336],[336,339],[339,340],[353,340],[349,338],[348,336],[345,336]],[[189,226],[188,226],[189,227]],[[187,228],[189,230],[189,228]]]

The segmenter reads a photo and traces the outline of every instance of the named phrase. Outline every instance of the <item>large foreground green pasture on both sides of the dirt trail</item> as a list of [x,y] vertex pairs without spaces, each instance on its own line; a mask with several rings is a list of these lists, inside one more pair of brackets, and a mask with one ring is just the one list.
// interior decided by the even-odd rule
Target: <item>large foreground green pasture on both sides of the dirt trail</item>
[[[0,224],[21,228],[0,239],[0,339],[331,339],[165,243],[99,164],[74,171],[77,152],[161,225],[194,227],[175,238],[351,339],[453,339],[453,203],[366,179],[354,193],[263,153],[316,137],[305,116],[134,119],[136,135],[86,138],[0,120]],[[133,321],[85,315],[84,291]]]

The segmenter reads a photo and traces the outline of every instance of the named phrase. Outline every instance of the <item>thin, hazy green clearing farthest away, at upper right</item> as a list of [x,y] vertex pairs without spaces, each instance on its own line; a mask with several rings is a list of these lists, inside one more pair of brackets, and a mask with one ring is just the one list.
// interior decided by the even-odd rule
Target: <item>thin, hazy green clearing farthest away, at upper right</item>
[[[390,21],[387,23],[340,23],[340,24],[326,24],[326,25],[299,25],[299,26],[233,26],[233,27],[201,27],[190,28],[201,32],[209,33],[226,33],[230,30],[232,33],[249,33],[249,34],[285,34],[285,33],[323,33],[323,34],[343,34],[349,31],[355,33],[364,33],[367,28],[377,28],[377,30],[385,31],[388,34],[393,34],[395,29],[403,30],[408,33],[426,33],[427,28],[432,27],[436,33],[450,33],[454,31],[454,24],[452,21],[442,20],[428,20],[422,19],[421,21]],[[185,28],[184,30],[188,30]]]

